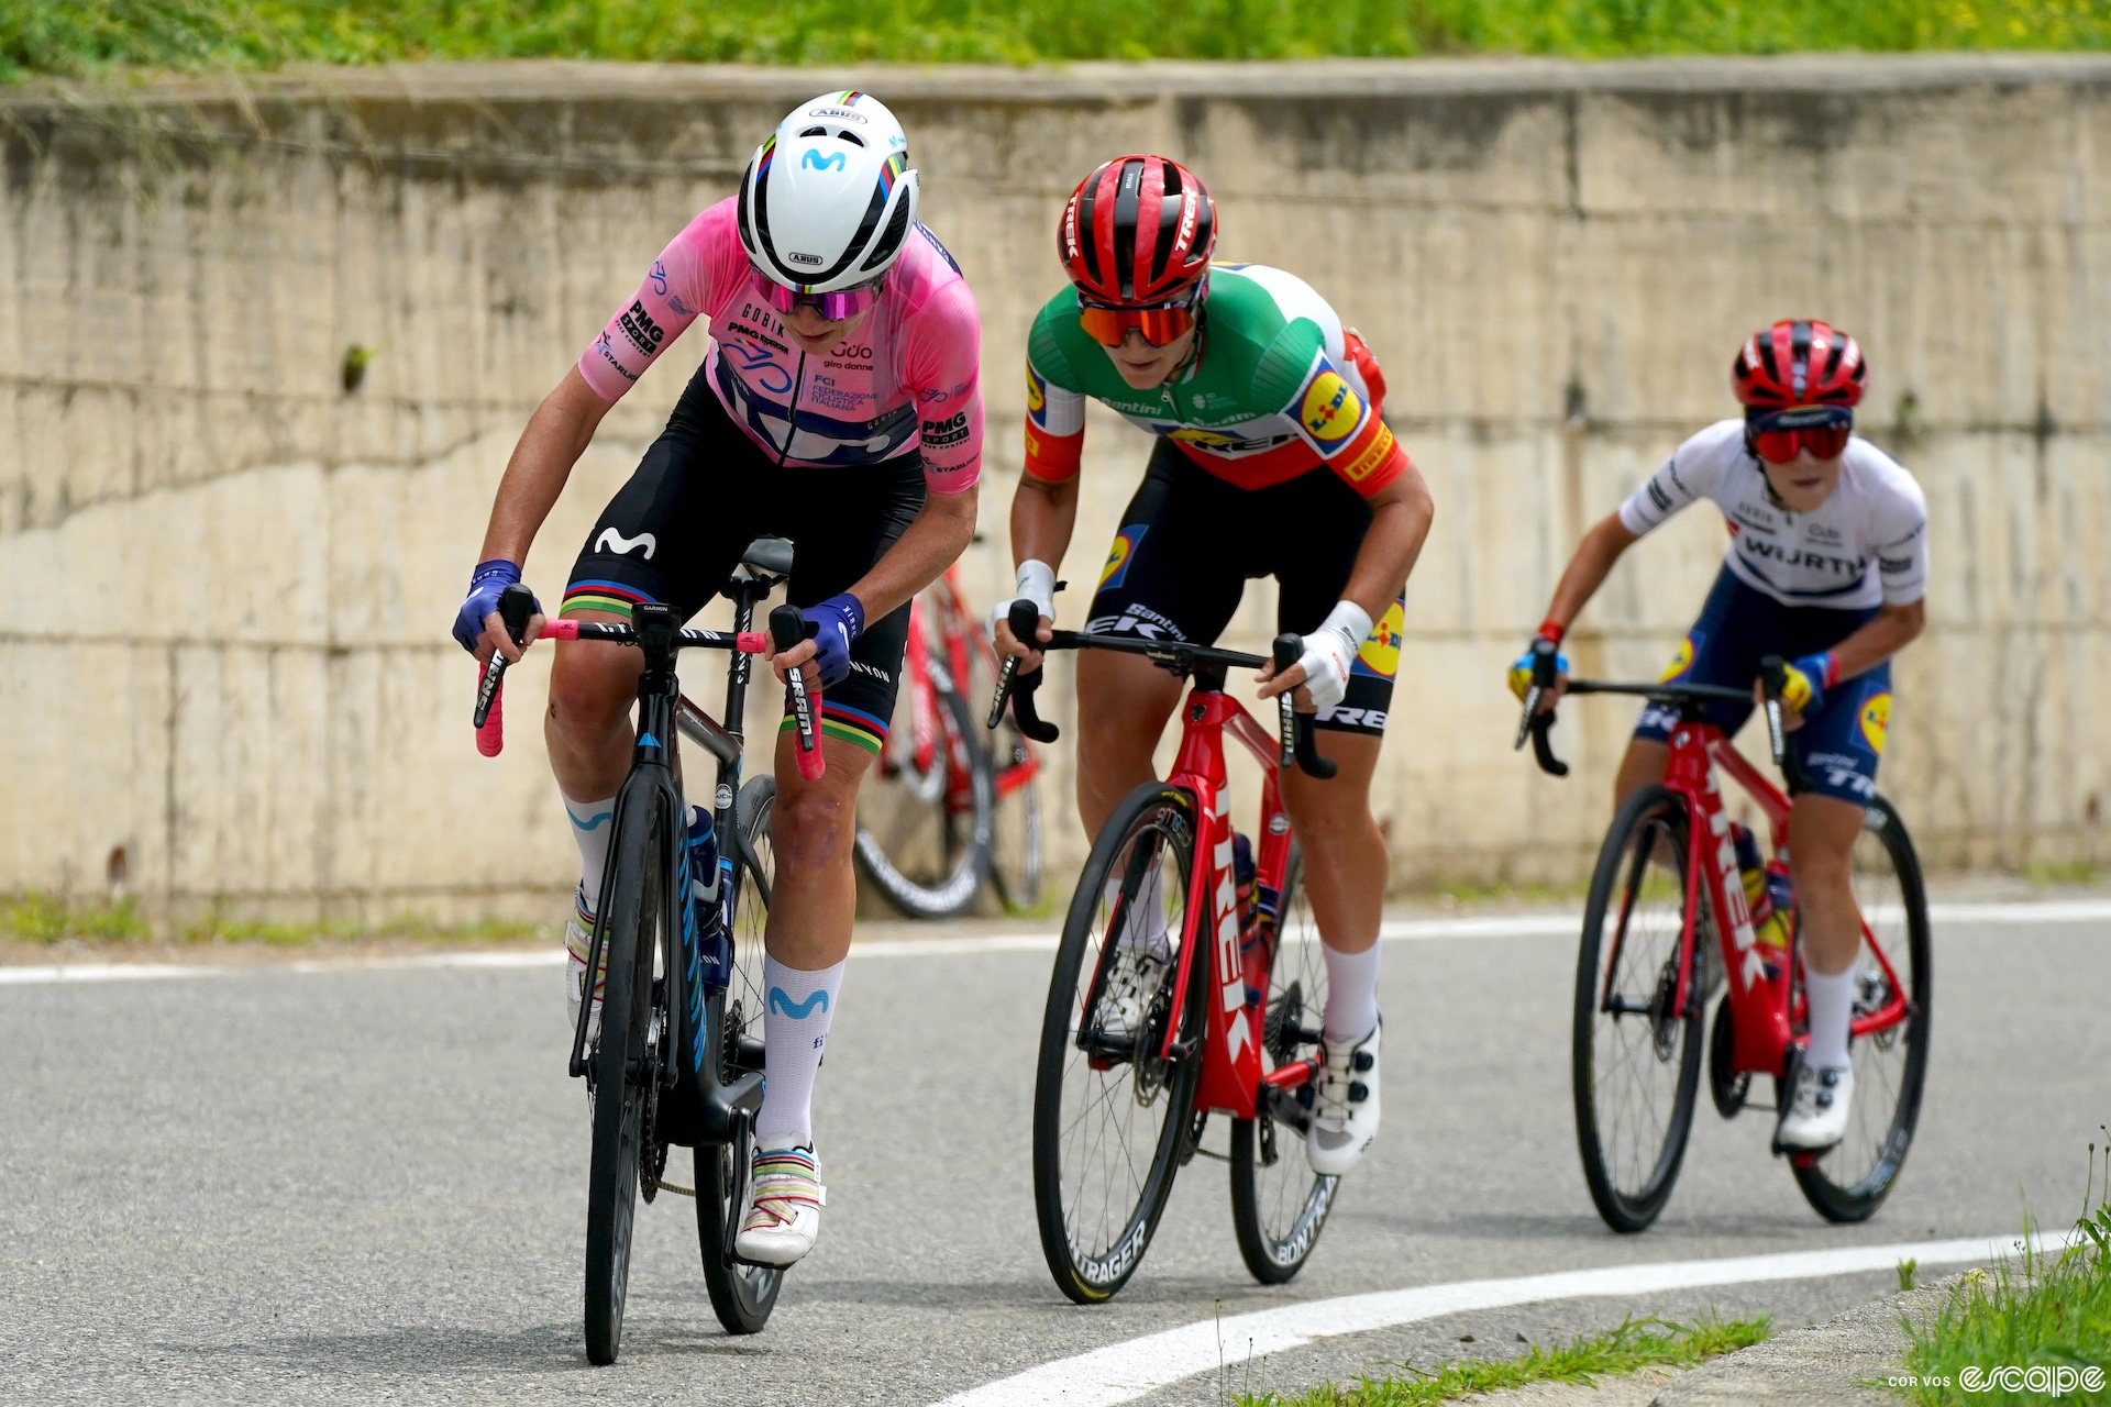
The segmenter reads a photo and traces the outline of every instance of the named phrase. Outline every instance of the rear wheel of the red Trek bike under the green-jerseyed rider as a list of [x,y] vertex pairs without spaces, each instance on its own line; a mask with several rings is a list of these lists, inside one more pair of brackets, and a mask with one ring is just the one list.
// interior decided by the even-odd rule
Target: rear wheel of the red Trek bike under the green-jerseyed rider
[[[1277,899],[1277,947],[1269,966],[1269,1004],[1262,1021],[1260,1059],[1277,1069],[1317,1053],[1319,1019],[1326,1013],[1326,956],[1319,926],[1305,903],[1305,856],[1292,844]],[[1305,1133],[1275,1112],[1311,1110],[1311,1084],[1296,1095],[1260,1088],[1254,1118],[1231,1120],[1231,1223],[1239,1255],[1262,1285],[1286,1285],[1319,1245],[1340,1177],[1313,1173],[1305,1162]],[[1286,1137],[1286,1131],[1294,1137]]]

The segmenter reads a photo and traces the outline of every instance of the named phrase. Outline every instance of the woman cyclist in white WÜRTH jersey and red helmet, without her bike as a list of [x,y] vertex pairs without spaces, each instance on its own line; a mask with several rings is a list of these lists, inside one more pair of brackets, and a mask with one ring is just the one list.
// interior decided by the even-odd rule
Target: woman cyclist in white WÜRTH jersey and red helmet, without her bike
[[[1877,793],[1891,721],[1891,656],[1927,620],[1927,502],[1896,460],[1853,437],[1868,365],[1824,323],[1784,321],[1752,333],[1731,365],[1742,420],[1682,443],[1628,502],[1583,536],[1554,589],[1539,637],[1560,648],[1568,624],[1642,534],[1699,498],[1723,508],[1729,548],[1699,620],[1666,679],[1754,688],[1765,656],[1794,660],[1784,724],[1799,766],[1788,821],[1809,1040],[1775,1141],[1824,1150],[1847,1133],[1853,1103],[1849,1027],[1862,920],[1851,852]],[[1511,664],[1522,698],[1533,652]],[[1549,690],[1554,707],[1566,683]],[[1710,702],[1735,734],[1754,705]],[[1617,799],[1663,780],[1674,711],[1651,705],[1619,764]]]

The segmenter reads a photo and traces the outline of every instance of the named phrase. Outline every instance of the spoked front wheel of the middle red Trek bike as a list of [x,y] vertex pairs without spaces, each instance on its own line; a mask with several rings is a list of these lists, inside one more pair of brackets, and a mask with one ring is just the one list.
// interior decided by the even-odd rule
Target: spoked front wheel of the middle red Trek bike
[[[1178,787],[1131,791],[1100,829],[1056,951],[1034,1078],[1034,1213],[1049,1274],[1077,1304],[1129,1283],[1180,1169],[1207,987],[1191,972],[1174,1013],[1197,821]],[[1167,960],[1153,970],[1144,953],[1161,926]],[[1176,1019],[1176,1044],[1193,1044],[1165,1057]]]

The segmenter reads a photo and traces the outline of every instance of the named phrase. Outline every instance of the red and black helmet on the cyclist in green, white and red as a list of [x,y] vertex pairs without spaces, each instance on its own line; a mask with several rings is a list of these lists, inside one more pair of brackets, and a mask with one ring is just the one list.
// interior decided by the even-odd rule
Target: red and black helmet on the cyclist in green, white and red
[[1056,228],[1056,253],[1079,295],[1148,308],[1188,297],[1210,272],[1216,203],[1165,156],[1117,156],[1079,181]]

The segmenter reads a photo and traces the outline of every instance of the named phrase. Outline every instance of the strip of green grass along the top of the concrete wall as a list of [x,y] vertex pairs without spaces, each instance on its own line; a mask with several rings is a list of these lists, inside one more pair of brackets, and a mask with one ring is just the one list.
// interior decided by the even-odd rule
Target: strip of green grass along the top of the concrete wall
[[0,76],[110,65],[741,63],[2105,49],[2107,0],[0,0]]

